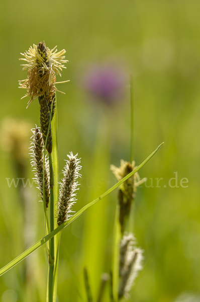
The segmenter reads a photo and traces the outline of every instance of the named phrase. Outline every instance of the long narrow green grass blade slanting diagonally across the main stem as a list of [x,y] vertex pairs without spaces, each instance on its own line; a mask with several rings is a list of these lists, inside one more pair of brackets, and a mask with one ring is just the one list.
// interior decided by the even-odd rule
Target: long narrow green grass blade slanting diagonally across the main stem
[[12,260],[10,263],[8,263],[6,266],[4,266],[2,269],[0,269],[0,276],[6,273],[8,270],[10,270],[12,267],[14,267],[16,264],[24,260],[27,256],[32,254],[34,251],[36,251],[38,248],[40,248],[43,244],[48,242],[53,236],[58,234],[61,230],[66,228],[66,226],[71,223],[73,220],[75,220],[78,216],[80,216],[88,207],[91,205],[95,204],[99,200],[103,199],[105,196],[107,196],[109,193],[111,193],[113,190],[115,190],[117,187],[119,187],[125,180],[127,180],[129,177],[131,177],[134,173],[136,173],[138,170],[140,170],[159,150],[163,143],[161,143],[155,150],[154,152],[148,156],[148,158],[140,164],[134,171],[129,173],[127,176],[125,176],[122,180],[120,180],[117,184],[115,184],[113,187],[111,187],[109,190],[107,190],[105,193],[103,193],[101,196],[98,198],[94,199],[90,203],[86,204],[83,206],[77,213],[75,213],[72,217],[70,217],[67,221],[63,222],[61,225],[58,226],[53,232],[45,236],[43,239],[39,240],[36,242],[32,247],[30,247],[28,250],[23,252],[21,255],[19,255],[17,258]]

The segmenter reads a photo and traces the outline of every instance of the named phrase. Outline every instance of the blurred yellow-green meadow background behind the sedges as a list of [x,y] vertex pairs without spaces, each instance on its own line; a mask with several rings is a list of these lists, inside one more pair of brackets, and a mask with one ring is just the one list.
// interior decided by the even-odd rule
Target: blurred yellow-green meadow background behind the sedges
[[[26,78],[20,52],[45,40],[66,49],[67,69],[57,94],[60,171],[66,155],[78,152],[82,178],[74,210],[98,197],[116,181],[110,164],[130,160],[129,74],[134,79],[135,161],[140,164],[162,141],[156,156],[140,170],[147,187],[138,189],[134,233],[144,249],[144,270],[131,301],[200,301],[199,154],[200,3],[196,0],[38,1],[2,3],[1,121],[7,117],[39,125],[39,104],[26,109],[18,80]],[[92,102],[80,82],[90,64],[118,62],[126,73],[121,102]],[[117,63],[116,63],[117,64]],[[60,81],[57,78],[57,81]],[[31,131],[30,131],[31,136]],[[27,149],[28,153],[28,149]],[[1,150],[0,266],[23,252],[23,208],[11,155]],[[27,158],[27,166],[29,159]],[[31,168],[27,175],[32,177]],[[177,172],[178,188],[168,182]],[[156,178],[163,178],[156,187]],[[180,186],[182,178],[188,187]],[[171,182],[175,185],[175,180]],[[164,185],[166,187],[164,187]],[[35,186],[28,221],[30,245],[44,236],[43,206]],[[88,209],[62,232],[58,275],[59,301],[85,300],[86,265],[96,296],[101,273],[110,271],[117,191]],[[31,242],[32,241],[32,242]],[[30,257],[26,301],[44,301],[45,247]],[[0,278],[3,302],[23,301],[22,267]],[[80,294],[79,294],[80,292]],[[82,298],[80,297],[82,295]],[[180,296],[178,298],[178,296]],[[105,301],[107,298],[105,297]]]

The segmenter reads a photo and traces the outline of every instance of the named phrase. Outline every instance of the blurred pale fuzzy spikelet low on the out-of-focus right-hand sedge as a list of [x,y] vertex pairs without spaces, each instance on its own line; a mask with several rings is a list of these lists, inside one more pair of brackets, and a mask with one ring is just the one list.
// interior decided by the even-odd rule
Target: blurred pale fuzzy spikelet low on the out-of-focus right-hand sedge
[[142,270],[143,251],[135,243],[133,234],[124,235],[120,243],[119,298],[128,297],[138,272]]

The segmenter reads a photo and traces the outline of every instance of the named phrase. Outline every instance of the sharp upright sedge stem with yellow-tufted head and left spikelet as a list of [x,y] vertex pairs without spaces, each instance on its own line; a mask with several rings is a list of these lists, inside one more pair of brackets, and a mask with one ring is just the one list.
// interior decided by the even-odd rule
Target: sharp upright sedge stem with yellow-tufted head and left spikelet
[[[39,176],[36,175],[36,181],[39,185],[40,194],[43,199],[44,216],[45,216],[45,233],[46,236],[49,233],[53,233],[57,228],[57,201],[58,201],[58,153],[57,153],[57,109],[56,109],[56,75],[61,77],[62,68],[66,68],[65,49],[57,51],[56,46],[53,49],[46,47],[45,42],[40,42],[38,45],[33,45],[25,53],[21,53],[23,58],[20,60],[25,61],[23,64],[23,70],[28,69],[27,79],[19,81],[20,88],[26,89],[26,95],[30,100],[28,106],[33,100],[38,98],[40,104],[40,124],[41,132],[38,134],[41,140],[39,143],[33,142],[33,147],[41,147],[38,152],[39,155],[35,155],[33,149],[33,155],[35,162],[33,162],[34,169],[39,170]],[[68,81],[64,81],[68,82]],[[63,82],[63,83],[64,83]],[[62,82],[57,82],[57,84]],[[27,106],[27,107],[28,107]],[[56,114],[55,114],[56,111]],[[54,118],[55,123],[52,122]],[[52,122],[52,125],[51,125]],[[36,132],[39,131],[36,129]],[[40,134],[42,136],[40,136]],[[42,139],[43,138],[43,139]],[[41,143],[41,141],[43,141]],[[37,141],[36,141],[37,142]],[[53,145],[53,142],[55,143]],[[34,145],[35,143],[35,145]],[[44,149],[43,149],[44,147]],[[46,161],[46,150],[49,155],[49,163]],[[36,148],[37,151],[37,148]],[[52,154],[53,152],[53,154]],[[43,156],[43,158],[42,158]],[[43,164],[42,164],[43,162]],[[36,166],[36,167],[35,167]],[[54,184],[54,166],[55,166],[55,182]],[[47,170],[45,170],[47,168]],[[45,182],[46,181],[46,182]],[[55,187],[54,187],[55,185]],[[45,190],[45,188],[48,190]],[[55,192],[54,192],[55,188]],[[44,197],[43,197],[44,196]],[[49,203],[50,196],[50,203]],[[59,253],[59,241],[60,234],[55,238],[52,236],[48,240],[47,252],[48,252],[48,282],[47,282],[47,302],[56,301],[57,290],[57,267],[58,267],[58,253]],[[56,259],[54,259],[56,256]]]

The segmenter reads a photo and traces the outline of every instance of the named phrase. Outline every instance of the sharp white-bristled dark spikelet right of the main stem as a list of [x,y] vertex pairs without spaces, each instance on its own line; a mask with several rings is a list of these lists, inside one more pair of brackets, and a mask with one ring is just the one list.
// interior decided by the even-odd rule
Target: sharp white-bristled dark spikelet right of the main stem
[[64,178],[60,183],[59,201],[57,209],[57,222],[60,225],[66,221],[71,215],[71,206],[75,203],[75,191],[78,190],[78,182],[76,179],[81,175],[78,173],[81,169],[79,166],[80,159],[77,159],[77,154],[73,156],[72,152],[68,155],[69,160],[63,170]]

